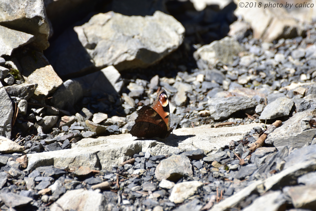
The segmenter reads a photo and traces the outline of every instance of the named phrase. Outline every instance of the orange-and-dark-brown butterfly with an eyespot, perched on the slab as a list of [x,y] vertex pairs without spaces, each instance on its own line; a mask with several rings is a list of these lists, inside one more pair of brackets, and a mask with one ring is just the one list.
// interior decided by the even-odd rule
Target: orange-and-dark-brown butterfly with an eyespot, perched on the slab
[[135,124],[129,133],[137,138],[167,138],[172,132],[170,128],[170,109],[167,92],[161,89],[153,105],[144,105],[138,110]]

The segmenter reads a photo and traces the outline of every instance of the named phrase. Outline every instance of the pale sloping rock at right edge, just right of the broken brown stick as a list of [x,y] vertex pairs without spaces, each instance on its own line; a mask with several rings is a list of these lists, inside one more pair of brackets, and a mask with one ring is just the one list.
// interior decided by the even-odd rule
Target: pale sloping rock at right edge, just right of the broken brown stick
[[313,118],[313,110],[307,110],[294,114],[289,120],[283,122],[281,127],[276,128],[267,136],[265,143],[273,144],[277,139],[295,135],[311,129],[308,121]]

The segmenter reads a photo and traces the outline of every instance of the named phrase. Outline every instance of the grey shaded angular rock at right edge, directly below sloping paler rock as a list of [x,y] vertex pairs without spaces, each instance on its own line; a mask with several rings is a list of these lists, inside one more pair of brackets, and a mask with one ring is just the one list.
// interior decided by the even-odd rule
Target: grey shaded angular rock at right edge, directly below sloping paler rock
[[316,129],[310,129],[300,133],[288,134],[285,137],[279,137],[274,140],[273,144],[276,148],[280,148],[282,146],[291,146],[294,148],[303,147],[306,144],[312,143],[315,133]]

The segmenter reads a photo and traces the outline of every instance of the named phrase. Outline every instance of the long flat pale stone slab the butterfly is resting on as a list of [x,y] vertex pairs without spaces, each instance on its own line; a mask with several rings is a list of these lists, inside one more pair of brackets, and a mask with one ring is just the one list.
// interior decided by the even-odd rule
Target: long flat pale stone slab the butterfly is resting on
[[28,154],[27,171],[38,166],[57,167],[89,166],[92,170],[111,170],[112,164],[120,164],[132,158],[135,153],[150,152],[151,155],[166,155],[179,149],[184,151],[204,150],[205,154],[215,152],[228,145],[231,140],[241,140],[247,132],[260,124],[236,127],[210,128],[208,125],[174,130],[165,140],[137,139],[131,134],[110,135],[82,139],[72,144],[71,149]]

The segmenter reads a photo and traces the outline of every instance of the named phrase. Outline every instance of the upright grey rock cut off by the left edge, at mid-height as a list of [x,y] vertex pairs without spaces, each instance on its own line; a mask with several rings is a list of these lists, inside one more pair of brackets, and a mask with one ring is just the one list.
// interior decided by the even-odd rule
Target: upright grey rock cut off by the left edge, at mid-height
[[0,136],[11,138],[11,121],[13,116],[13,106],[5,88],[0,88]]

